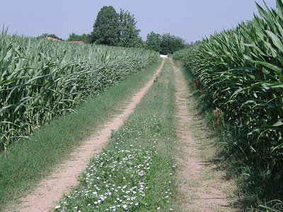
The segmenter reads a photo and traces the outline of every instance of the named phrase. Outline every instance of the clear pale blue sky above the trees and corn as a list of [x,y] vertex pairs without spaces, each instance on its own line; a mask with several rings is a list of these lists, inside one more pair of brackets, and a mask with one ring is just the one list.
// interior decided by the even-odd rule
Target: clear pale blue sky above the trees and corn
[[[257,2],[263,5],[262,0]],[[275,0],[265,2],[272,8],[276,6]],[[0,25],[8,26],[8,33],[26,36],[50,33],[67,39],[70,33],[91,33],[103,6],[134,14],[144,40],[154,31],[171,33],[187,42],[230,29],[258,13],[253,0],[4,0]]]

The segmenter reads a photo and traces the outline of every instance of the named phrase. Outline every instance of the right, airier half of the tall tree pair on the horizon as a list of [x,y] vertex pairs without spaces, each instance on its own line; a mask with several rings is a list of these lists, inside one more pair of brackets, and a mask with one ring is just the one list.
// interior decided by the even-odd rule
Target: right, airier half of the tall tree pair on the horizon
[[131,15],[129,11],[120,9],[119,23],[119,45],[122,47],[137,47],[141,45],[141,37],[139,37],[139,32],[141,30],[137,29],[137,21],[134,20],[134,15]]

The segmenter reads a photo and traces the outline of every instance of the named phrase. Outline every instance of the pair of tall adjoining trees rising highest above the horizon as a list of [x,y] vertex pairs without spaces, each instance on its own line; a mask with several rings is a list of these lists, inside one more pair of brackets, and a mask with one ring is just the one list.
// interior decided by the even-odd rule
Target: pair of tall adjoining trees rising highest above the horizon
[[93,25],[92,42],[96,44],[143,47],[144,42],[139,37],[137,21],[129,11],[120,10],[118,14],[112,6],[103,6],[98,12]]

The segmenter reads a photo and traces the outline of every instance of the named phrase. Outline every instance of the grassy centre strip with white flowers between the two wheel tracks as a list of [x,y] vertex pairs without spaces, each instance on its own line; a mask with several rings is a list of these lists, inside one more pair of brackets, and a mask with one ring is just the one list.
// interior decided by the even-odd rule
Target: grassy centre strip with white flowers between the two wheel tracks
[[173,71],[167,61],[134,114],[112,134],[57,211],[173,210],[174,119]]

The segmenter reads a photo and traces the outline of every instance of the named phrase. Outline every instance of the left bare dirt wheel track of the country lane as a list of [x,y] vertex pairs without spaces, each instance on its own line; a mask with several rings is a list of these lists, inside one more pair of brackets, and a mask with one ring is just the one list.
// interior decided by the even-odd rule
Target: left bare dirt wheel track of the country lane
[[67,160],[58,170],[55,170],[50,177],[42,180],[39,187],[33,194],[23,199],[23,204],[18,211],[49,211],[55,206],[54,202],[59,201],[63,194],[68,194],[71,187],[77,184],[76,177],[85,170],[93,155],[100,152],[101,148],[108,141],[112,130],[117,130],[125,122],[129,114],[139,104],[141,98],[154,83],[154,79],[161,72],[164,61],[154,74],[154,78],[144,88],[134,94],[127,108],[108,124],[105,124],[97,135],[92,136],[71,156],[73,160]]

